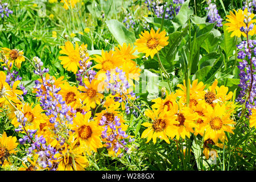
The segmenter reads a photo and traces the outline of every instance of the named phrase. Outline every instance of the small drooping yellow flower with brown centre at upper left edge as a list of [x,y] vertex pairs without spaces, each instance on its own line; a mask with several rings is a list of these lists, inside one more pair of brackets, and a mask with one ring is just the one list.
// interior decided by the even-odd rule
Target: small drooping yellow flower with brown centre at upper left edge
[[[17,68],[21,67],[22,62],[25,61],[23,51],[18,51],[17,49],[9,49],[7,47],[3,47],[2,50],[8,60],[12,61],[12,63],[15,62],[15,66]],[[11,68],[13,68],[13,65],[11,66]]]

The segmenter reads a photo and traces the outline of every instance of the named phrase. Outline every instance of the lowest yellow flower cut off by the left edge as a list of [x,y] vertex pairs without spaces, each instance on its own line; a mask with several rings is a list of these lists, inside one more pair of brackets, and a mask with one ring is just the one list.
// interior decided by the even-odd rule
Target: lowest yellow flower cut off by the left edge
[[5,132],[2,134],[2,137],[0,137],[0,165],[3,164],[11,154],[16,154],[15,149],[18,146],[16,140],[16,137],[7,137]]

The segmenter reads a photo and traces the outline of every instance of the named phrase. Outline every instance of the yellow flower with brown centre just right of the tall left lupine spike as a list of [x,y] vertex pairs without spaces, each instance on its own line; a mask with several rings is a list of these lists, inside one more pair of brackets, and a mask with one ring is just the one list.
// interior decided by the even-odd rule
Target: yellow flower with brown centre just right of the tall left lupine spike
[[81,94],[76,86],[70,86],[68,82],[65,82],[63,85],[60,85],[60,88],[59,94],[61,94],[63,101],[68,106],[71,106],[73,109],[81,106]]

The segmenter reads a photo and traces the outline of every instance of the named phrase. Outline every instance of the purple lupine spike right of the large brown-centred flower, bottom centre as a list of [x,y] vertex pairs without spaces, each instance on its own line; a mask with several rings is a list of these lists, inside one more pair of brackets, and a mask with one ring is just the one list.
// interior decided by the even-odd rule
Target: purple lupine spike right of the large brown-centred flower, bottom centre
[[[106,142],[106,148],[113,147],[113,151],[117,153],[119,149],[125,149],[125,151],[128,151],[129,148],[126,146],[127,142],[125,141],[126,138],[128,138],[128,135],[125,131],[122,131],[120,118],[116,115],[114,117],[113,121],[109,121],[111,119],[106,118],[104,115],[102,116],[100,120],[100,126],[104,127],[104,131],[102,131],[101,137],[103,139],[106,139],[108,142]],[[111,132],[109,132],[111,131]],[[133,139],[129,138],[129,142],[133,142]],[[123,152],[119,154],[119,157],[123,155]]]

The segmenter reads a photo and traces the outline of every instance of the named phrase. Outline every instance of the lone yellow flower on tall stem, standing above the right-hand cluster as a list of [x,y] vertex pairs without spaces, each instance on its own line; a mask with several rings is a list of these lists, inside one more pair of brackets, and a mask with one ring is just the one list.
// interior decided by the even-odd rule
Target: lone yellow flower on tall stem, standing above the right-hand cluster
[[146,53],[146,57],[151,56],[153,59],[154,55],[160,51],[164,46],[168,45],[168,36],[166,36],[166,31],[163,30],[160,32],[160,28],[155,32],[153,28],[151,31],[141,32],[142,35],[139,35],[140,39],[137,39],[134,43],[137,46],[139,52]]

